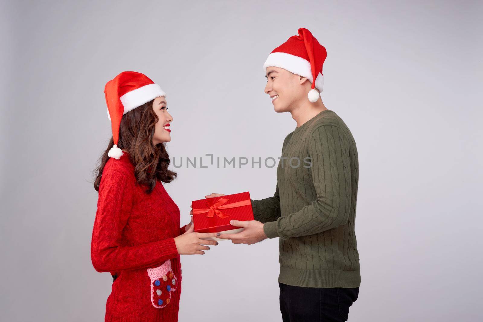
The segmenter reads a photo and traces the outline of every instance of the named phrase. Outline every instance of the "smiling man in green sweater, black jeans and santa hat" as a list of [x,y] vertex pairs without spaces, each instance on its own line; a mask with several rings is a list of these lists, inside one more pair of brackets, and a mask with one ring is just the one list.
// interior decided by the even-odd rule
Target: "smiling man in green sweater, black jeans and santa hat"
[[346,124],[320,97],[326,56],[300,28],[267,58],[265,93],[297,127],[284,140],[273,197],[252,201],[256,220],[230,222],[243,231],[219,237],[246,244],[279,238],[284,322],[346,321],[361,280],[354,231],[357,149]]

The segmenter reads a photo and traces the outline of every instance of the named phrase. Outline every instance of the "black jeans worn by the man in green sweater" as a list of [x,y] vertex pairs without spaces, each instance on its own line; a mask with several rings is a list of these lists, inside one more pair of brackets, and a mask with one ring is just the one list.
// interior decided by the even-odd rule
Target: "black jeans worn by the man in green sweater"
[[300,287],[278,283],[283,322],[344,322],[359,288]]

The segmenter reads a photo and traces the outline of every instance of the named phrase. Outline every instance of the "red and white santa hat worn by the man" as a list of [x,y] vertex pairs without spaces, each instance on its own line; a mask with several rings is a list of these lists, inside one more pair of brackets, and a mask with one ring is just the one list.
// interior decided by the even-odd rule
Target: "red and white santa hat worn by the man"
[[317,102],[324,87],[322,65],[327,57],[327,51],[312,33],[305,28],[298,29],[298,36],[292,36],[282,45],[275,48],[263,64],[267,73],[267,67],[280,67],[291,73],[307,77],[312,82],[309,101]]

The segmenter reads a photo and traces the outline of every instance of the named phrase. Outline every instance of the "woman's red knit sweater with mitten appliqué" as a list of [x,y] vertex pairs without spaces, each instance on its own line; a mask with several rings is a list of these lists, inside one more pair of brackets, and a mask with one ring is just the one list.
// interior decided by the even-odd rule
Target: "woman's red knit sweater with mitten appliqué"
[[102,172],[91,258],[99,272],[118,275],[105,321],[178,321],[180,255],[174,237],[185,232],[178,206],[160,181],[147,194],[124,152]]

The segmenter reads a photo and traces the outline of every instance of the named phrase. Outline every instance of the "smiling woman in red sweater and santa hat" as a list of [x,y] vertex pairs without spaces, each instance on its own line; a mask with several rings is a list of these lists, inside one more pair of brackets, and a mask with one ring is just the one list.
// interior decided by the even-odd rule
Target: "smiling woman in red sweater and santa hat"
[[[178,321],[180,255],[204,254],[216,233],[180,228],[180,212],[163,187],[176,174],[166,94],[141,73],[122,72],[105,90],[113,138],[100,159],[91,258],[114,283],[105,321]],[[113,147],[114,145],[114,147]],[[111,148],[112,147],[112,148]]]

